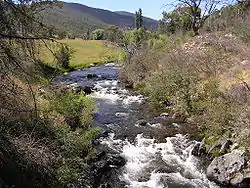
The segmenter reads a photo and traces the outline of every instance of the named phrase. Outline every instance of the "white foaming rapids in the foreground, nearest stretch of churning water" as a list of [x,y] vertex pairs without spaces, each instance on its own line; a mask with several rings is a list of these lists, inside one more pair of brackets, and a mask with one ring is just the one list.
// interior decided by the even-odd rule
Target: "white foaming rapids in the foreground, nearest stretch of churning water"
[[157,143],[155,139],[139,134],[135,142],[130,143],[115,140],[112,134],[101,143],[120,152],[127,160],[120,179],[128,188],[217,188],[199,167],[199,160],[191,154],[197,142],[183,135]]

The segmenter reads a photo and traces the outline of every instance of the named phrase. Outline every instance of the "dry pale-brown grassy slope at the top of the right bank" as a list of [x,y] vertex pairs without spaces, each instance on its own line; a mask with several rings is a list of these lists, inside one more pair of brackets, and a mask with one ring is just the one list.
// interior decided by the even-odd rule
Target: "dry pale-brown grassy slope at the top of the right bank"
[[213,33],[190,39],[161,59],[161,69],[192,70],[203,78],[215,77],[221,88],[250,84],[250,48],[232,34]]

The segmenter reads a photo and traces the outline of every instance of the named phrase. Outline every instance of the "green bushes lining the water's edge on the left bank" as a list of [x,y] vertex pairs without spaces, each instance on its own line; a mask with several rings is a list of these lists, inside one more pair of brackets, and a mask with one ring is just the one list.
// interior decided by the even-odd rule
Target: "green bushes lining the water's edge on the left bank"
[[99,130],[91,127],[94,100],[72,91],[48,95],[41,105],[42,115],[53,119],[49,126],[58,150],[56,179],[67,187],[84,177],[86,161],[92,157],[92,142]]

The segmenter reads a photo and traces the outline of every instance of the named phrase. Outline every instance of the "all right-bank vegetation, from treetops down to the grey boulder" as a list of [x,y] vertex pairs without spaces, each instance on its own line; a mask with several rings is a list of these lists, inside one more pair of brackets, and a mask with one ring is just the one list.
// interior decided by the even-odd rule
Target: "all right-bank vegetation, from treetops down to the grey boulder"
[[[189,9],[185,2],[196,1],[180,2]],[[250,156],[249,2],[211,12],[198,30],[192,21],[183,23],[190,20],[182,10],[164,13],[158,34],[130,37],[128,46],[134,50],[125,50],[121,80],[147,96],[157,113],[197,126],[194,137],[202,144],[194,154],[213,160],[209,178],[244,187],[249,166],[227,173],[227,162],[223,166],[218,161],[235,149],[243,151],[246,161]]]

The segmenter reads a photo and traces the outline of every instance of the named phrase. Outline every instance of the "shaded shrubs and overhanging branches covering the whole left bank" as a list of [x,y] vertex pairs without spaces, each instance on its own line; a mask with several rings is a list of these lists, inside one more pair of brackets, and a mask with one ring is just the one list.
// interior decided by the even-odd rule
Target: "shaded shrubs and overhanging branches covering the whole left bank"
[[[92,128],[93,99],[84,92],[77,94],[52,84],[60,69],[69,67],[72,54],[67,45],[43,34],[49,28],[34,17],[43,3],[0,2],[0,186],[3,187],[76,184],[92,156],[92,141],[98,132]],[[50,49],[60,69],[40,59],[39,44],[52,42],[61,49],[59,52]]]

